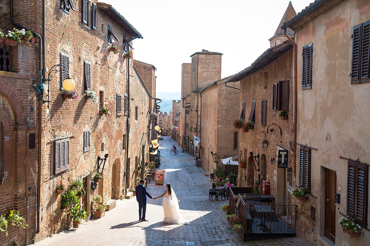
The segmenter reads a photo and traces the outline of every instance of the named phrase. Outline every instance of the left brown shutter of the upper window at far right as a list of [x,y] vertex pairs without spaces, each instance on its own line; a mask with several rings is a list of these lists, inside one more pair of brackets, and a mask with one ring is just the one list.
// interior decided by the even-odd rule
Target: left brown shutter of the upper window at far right
[[361,25],[359,24],[353,27],[351,84],[360,83]]

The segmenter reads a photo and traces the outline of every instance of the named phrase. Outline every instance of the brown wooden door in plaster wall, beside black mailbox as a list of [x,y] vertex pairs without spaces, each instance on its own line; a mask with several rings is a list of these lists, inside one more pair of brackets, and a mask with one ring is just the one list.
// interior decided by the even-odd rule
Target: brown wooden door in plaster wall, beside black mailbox
[[337,174],[325,169],[325,236],[335,243],[335,191]]

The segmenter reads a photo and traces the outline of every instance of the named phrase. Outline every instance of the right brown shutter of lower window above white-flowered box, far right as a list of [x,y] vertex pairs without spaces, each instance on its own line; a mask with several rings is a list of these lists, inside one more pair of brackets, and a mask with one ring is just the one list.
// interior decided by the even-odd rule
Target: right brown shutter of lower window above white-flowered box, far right
[[355,220],[367,226],[367,179],[368,166],[356,163],[356,207]]

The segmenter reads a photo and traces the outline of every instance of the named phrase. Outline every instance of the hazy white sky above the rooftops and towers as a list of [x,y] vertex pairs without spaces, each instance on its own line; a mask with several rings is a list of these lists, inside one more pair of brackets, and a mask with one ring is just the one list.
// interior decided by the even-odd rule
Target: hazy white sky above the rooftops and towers
[[[100,0],[144,37],[134,59],[157,68],[157,93],[181,91],[181,64],[197,51],[222,52],[222,77],[248,67],[268,49],[287,0]],[[313,0],[292,0],[300,12]]]

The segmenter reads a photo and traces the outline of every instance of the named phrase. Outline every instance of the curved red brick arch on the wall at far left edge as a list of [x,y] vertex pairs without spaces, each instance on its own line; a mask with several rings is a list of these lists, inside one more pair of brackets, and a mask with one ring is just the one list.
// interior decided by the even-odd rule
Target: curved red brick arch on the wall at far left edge
[[[17,90],[7,82],[7,80],[0,78],[0,93],[7,96],[11,102],[11,109],[14,112],[15,125],[26,125],[26,117],[24,115],[22,100]],[[19,107],[20,106],[20,107]]]

